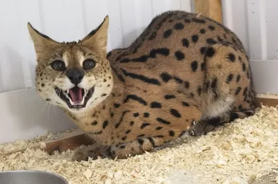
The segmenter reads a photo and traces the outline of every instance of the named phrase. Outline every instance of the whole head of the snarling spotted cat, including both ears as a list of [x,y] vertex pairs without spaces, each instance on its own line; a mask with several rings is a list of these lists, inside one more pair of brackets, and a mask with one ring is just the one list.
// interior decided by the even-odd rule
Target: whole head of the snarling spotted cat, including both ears
[[106,59],[108,16],[79,42],[56,42],[28,23],[37,57],[36,89],[44,99],[69,111],[95,107],[111,93]]

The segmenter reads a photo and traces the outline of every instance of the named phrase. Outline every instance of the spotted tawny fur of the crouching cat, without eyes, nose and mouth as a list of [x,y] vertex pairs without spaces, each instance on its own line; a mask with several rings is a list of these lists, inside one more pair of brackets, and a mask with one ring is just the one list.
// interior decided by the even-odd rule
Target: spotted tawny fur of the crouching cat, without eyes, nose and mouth
[[[188,129],[194,136],[206,134],[254,113],[245,49],[222,24],[193,13],[165,12],[131,46],[106,55],[107,28],[108,17],[79,43],[61,44],[29,26],[38,58],[38,93],[59,105],[101,147],[81,150],[74,159],[142,154]],[[70,109],[54,93],[54,86],[72,87],[63,72],[49,68],[56,57],[67,67],[82,68],[84,57],[97,62],[80,85],[95,86],[85,108]]]

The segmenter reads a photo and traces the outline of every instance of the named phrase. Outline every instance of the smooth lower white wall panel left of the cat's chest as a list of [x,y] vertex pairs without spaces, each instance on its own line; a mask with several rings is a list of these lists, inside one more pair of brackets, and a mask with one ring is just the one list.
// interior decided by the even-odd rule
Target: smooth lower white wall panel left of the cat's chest
[[40,98],[35,89],[0,93],[0,143],[76,127],[65,113]]

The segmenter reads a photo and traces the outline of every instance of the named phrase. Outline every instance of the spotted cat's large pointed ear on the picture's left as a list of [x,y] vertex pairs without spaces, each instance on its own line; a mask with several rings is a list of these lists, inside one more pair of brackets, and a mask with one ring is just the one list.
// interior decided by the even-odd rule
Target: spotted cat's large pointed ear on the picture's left
[[37,55],[45,51],[46,48],[54,48],[58,46],[59,43],[47,37],[47,35],[43,35],[42,33],[38,32],[33,26],[28,22],[28,31],[33,40],[35,46],[35,53]]

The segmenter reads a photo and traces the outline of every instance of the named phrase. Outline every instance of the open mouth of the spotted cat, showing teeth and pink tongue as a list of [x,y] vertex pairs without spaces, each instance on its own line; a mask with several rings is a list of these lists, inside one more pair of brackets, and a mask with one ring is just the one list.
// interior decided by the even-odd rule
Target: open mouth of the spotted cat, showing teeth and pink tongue
[[86,107],[88,100],[92,97],[92,93],[94,93],[94,87],[85,90],[75,86],[72,89],[67,89],[67,91],[56,87],[55,92],[60,99],[67,103],[70,109],[80,109]]

